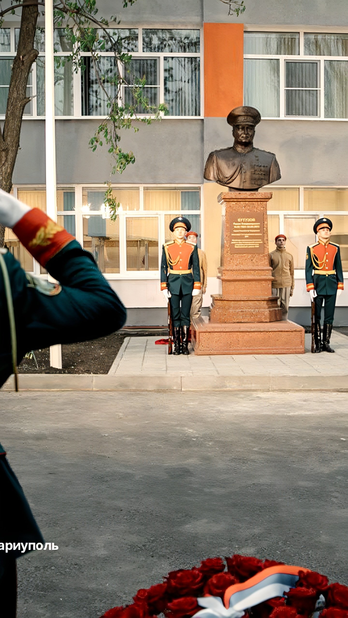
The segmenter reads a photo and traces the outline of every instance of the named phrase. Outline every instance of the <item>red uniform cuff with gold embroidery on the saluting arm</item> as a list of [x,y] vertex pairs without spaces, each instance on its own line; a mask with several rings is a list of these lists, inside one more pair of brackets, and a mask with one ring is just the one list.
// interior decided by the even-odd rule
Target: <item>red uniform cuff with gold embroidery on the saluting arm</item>
[[32,208],[13,227],[14,234],[41,266],[56,255],[74,236],[39,208]]

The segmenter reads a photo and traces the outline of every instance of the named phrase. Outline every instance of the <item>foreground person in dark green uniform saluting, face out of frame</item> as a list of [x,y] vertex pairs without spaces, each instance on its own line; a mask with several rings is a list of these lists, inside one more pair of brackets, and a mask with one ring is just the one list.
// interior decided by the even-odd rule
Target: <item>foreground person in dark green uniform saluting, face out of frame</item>
[[[91,253],[38,208],[0,190],[0,224],[10,227],[56,283],[24,272],[0,249],[0,386],[30,350],[101,337],[123,326],[126,310]],[[15,559],[45,543],[0,444],[0,598],[2,616],[16,614]],[[12,547],[13,544],[13,547]],[[42,545],[41,545],[42,548]]]

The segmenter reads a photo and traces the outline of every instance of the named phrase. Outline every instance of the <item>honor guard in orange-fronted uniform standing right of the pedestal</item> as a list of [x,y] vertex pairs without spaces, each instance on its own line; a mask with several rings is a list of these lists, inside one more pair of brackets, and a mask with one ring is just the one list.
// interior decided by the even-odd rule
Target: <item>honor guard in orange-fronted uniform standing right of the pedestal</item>
[[[333,224],[328,218],[318,219],[313,231],[318,242],[307,247],[306,282],[307,292],[315,303],[315,352],[334,352],[330,347],[333,329],[336,296],[343,290],[343,271],[339,245],[330,242]],[[323,341],[321,340],[320,317],[324,301]]]

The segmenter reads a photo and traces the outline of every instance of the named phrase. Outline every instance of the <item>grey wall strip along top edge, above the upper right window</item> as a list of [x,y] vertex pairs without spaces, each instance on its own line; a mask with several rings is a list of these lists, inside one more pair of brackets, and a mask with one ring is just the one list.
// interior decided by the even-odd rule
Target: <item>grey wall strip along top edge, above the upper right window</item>
[[264,25],[347,26],[347,0],[245,0],[245,12],[228,16],[220,0],[203,0],[204,22]]

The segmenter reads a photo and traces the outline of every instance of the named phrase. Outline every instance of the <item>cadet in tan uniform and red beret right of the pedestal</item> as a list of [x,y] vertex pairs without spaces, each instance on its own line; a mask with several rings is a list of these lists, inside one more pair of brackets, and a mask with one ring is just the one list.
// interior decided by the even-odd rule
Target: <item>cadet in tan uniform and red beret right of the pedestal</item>
[[269,266],[272,268],[272,296],[278,297],[278,307],[282,310],[282,319],[287,320],[290,296],[294,292],[294,258],[285,251],[285,234],[278,234],[274,239],[276,249],[269,253]]

